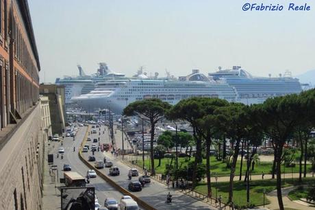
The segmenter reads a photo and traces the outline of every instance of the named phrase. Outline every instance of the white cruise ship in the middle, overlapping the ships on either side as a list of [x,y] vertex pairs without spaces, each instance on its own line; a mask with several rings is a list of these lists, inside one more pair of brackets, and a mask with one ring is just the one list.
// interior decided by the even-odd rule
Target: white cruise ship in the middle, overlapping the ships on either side
[[72,102],[86,110],[110,108],[122,113],[129,103],[148,98],[160,98],[176,104],[188,97],[217,97],[235,102],[237,94],[234,87],[224,82],[207,78],[198,70],[180,77],[179,80],[110,80],[99,82],[97,88],[88,94],[73,97]]

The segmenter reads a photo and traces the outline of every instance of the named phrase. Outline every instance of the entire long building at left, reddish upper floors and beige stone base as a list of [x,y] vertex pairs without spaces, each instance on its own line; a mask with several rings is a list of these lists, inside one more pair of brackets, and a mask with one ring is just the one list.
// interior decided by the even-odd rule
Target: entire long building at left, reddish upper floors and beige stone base
[[0,209],[42,209],[38,71],[27,0],[0,0]]

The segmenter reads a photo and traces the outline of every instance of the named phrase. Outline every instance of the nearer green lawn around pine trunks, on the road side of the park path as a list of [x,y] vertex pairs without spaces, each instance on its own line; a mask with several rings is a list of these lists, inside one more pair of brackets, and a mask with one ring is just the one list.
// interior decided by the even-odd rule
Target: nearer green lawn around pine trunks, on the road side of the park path
[[[315,183],[314,178],[303,178],[303,183]],[[297,185],[298,179],[286,179],[286,185],[282,187],[288,187],[290,185]],[[216,196],[215,183],[212,183],[212,195]],[[253,206],[264,205],[263,191],[266,189],[266,193],[276,189],[276,180],[252,180],[250,183],[250,203]],[[196,187],[196,191],[202,194],[207,194],[207,184],[199,183]],[[227,202],[229,196],[229,183],[218,183],[218,196],[221,195],[223,202]],[[247,191],[244,181],[234,181],[234,204],[238,207],[245,207],[247,205]],[[265,204],[270,203],[268,199],[265,199]]]

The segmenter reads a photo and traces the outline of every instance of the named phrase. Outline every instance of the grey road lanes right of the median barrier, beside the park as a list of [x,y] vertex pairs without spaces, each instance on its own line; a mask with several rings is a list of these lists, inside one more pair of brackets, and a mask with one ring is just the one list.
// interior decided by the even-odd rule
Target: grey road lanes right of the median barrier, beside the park
[[[108,135],[108,128],[105,128],[104,126],[101,127],[101,135],[99,135],[99,128],[97,129],[97,134],[91,134],[91,139],[98,139],[100,137],[101,143],[110,143],[110,137]],[[103,134],[104,131],[104,134]],[[120,136],[121,137],[121,136]],[[116,141],[119,141],[119,139],[116,139]],[[118,142],[117,142],[118,143]],[[92,142],[88,141],[88,144],[91,146]],[[118,145],[118,144],[117,144]],[[73,149],[73,148],[72,148]],[[84,157],[87,159],[88,156],[92,155],[92,152],[85,152],[83,153]],[[116,159],[111,152],[95,152],[95,157],[97,160],[103,160],[103,157],[106,156],[107,160],[110,160],[116,165],[121,174],[119,176],[110,176],[109,175],[109,168],[104,168],[103,172],[110,176],[112,180],[114,180],[118,185],[121,185],[121,187],[124,187],[125,189],[128,189],[128,171],[130,170],[130,167],[127,165],[124,165],[121,163],[118,159]],[[71,161],[74,161],[71,159]],[[77,165],[77,163],[73,163]],[[132,180],[138,180],[138,177],[134,176]],[[171,192],[173,195],[173,202],[166,204],[166,194],[168,192]],[[179,191],[174,191],[172,188],[169,188],[155,180],[151,180],[151,184],[146,185],[143,187],[142,191],[139,192],[133,192],[136,196],[144,200],[145,202],[148,202],[150,205],[155,207],[156,209],[216,209],[215,207],[212,207],[210,205],[205,204],[204,202],[201,202],[199,200],[196,200],[190,196],[187,196],[185,194],[181,194]],[[100,196],[99,196],[100,197]]]

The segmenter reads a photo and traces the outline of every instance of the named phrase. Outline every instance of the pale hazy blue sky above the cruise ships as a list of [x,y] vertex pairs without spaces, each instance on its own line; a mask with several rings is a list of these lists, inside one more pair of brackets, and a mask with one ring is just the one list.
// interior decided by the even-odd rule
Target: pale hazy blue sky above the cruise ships
[[[31,0],[41,82],[95,73],[98,62],[133,75],[186,75],[241,65],[253,75],[315,69],[315,3],[310,11],[243,12],[254,1]],[[290,1],[257,1],[286,8]],[[304,4],[305,1],[292,0]]]

